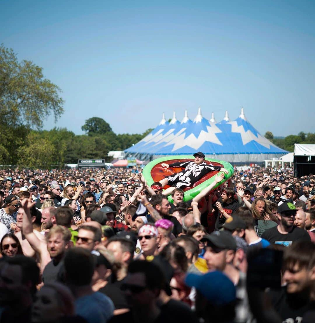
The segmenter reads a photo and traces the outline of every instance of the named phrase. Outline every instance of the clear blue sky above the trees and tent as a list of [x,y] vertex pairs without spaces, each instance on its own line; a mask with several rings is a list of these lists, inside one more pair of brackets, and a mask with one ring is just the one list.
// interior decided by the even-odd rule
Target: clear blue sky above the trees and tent
[[94,116],[141,133],[162,112],[244,107],[261,134],[286,136],[314,132],[314,16],[314,1],[4,0],[0,42],[62,89],[56,126],[76,134]]

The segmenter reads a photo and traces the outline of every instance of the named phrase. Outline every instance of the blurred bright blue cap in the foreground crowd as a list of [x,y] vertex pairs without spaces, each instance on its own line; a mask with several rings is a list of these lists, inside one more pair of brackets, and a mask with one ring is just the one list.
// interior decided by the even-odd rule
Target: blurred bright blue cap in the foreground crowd
[[228,276],[220,271],[212,271],[204,275],[188,274],[185,284],[195,287],[198,292],[214,305],[224,305],[236,300],[234,284]]

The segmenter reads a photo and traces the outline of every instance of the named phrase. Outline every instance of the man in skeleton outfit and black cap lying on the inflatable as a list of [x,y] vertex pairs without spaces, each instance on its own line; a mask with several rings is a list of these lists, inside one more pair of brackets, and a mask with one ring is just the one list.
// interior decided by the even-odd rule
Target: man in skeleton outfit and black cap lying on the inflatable
[[208,172],[220,171],[228,174],[229,172],[221,166],[213,166],[212,164],[207,164],[205,162],[205,155],[198,151],[194,153],[194,161],[185,162],[174,162],[170,165],[163,163],[161,167],[167,170],[169,167],[185,167],[185,169],[174,175],[167,176],[163,178],[160,183],[162,187],[165,185],[170,185],[163,194],[170,195],[176,188],[190,187],[197,181],[199,181]]

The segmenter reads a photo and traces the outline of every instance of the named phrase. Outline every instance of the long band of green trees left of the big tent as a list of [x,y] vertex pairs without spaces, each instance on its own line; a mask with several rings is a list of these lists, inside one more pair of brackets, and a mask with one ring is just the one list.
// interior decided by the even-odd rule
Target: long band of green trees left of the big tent
[[3,149],[0,151],[1,164],[49,169],[51,165],[63,167],[65,163],[77,163],[81,158],[109,161],[108,151],[132,146],[152,129],[142,134],[117,135],[105,120],[91,118],[86,120],[82,130],[86,134],[76,135],[65,128],[31,130],[25,126],[6,131],[7,139],[2,141]]

